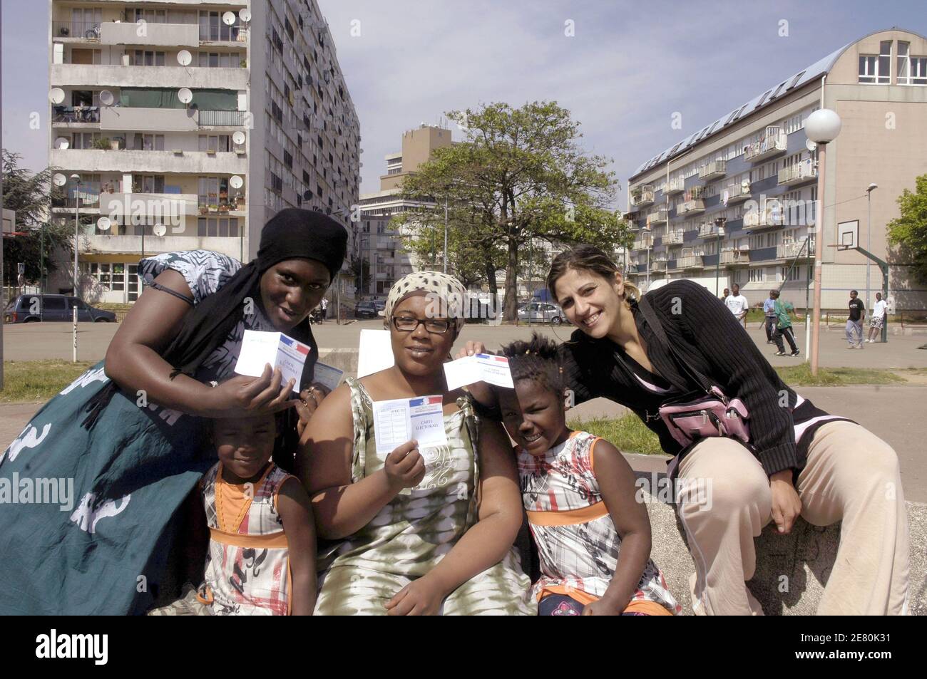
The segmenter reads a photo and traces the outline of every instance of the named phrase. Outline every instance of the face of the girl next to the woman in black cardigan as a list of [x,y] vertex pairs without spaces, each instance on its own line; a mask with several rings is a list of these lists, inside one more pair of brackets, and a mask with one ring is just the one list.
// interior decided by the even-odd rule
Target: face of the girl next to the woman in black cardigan
[[518,380],[514,389],[499,390],[502,424],[515,444],[531,455],[543,456],[563,443],[566,429],[565,403],[540,380]]

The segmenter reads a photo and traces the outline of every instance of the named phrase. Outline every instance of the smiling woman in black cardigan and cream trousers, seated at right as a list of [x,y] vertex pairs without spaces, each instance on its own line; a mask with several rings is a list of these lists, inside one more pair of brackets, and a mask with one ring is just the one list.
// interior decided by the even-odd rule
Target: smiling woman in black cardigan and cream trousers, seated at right
[[[842,521],[819,613],[907,610],[908,522],[891,446],[783,384],[698,283],[673,281],[641,295],[591,245],[554,258],[547,283],[578,328],[560,347],[576,403],[604,396],[627,406],[675,456],[669,474],[682,489],[677,510],[695,562],[696,613],[761,614],[745,585],[756,565],[753,538],[769,521],[790,532],[799,514],[819,526]],[[482,349],[468,343],[464,351]],[[471,389],[491,412],[491,392]],[[739,399],[742,417],[712,420],[710,435],[704,425],[715,415],[706,413],[687,443],[661,409],[717,400],[714,389],[729,405]]]

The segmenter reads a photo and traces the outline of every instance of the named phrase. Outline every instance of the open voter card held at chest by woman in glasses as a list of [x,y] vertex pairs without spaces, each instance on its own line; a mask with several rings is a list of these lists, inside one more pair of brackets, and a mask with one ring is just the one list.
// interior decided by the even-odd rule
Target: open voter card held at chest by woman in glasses
[[440,395],[374,401],[376,452],[391,453],[413,439],[420,450],[446,446],[443,401]]

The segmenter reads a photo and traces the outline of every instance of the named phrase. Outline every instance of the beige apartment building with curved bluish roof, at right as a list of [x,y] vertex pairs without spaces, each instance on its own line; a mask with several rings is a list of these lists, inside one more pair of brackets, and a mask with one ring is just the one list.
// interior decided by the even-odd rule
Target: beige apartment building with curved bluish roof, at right
[[[843,121],[827,146],[821,196],[817,152],[804,131],[820,107]],[[783,285],[783,297],[803,308],[813,284],[816,210],[823,206],[823,308],[846,308],[854,288],[865,299],[867,258],[834,246],[838,225],[853,222],[859,245],[890,265],[895,308],[927,308],[927,289],[885,237],[885,224],[898,216],[897,196],[927,172],[924,149],[927,39],[900,29],[873,32],[773,83],[635,170],[629,276],[646,285],[714,280],[718,270],[740,283],[752,304]],[[868,193],[870,183],[878,188]],[[723,237],[719,218],[726,220]],[[870,273],[874,301],[882,275],[874,264]]]

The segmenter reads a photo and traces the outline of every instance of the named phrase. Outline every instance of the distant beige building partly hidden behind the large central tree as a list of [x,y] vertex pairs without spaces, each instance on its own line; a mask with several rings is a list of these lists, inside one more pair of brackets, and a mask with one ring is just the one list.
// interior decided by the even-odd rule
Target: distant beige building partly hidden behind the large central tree
[[[360,228],[355,235],[355,251],[367,262],[359,295],[386,298],[396,280],[414,270],[432,266],[417,261],[402,247],[400,232],[390,228],[393,215],[414,205],[401,198],[402,180],[426,162],[435,149],[451,145],[451,131],[422,123],[402,133],[402,150],[385,158],[386,174],[380,175],[380,190],[361,196]],[[438,257],[444,246],[436,243]],[[436,259],[437,261],[437,259]]]

